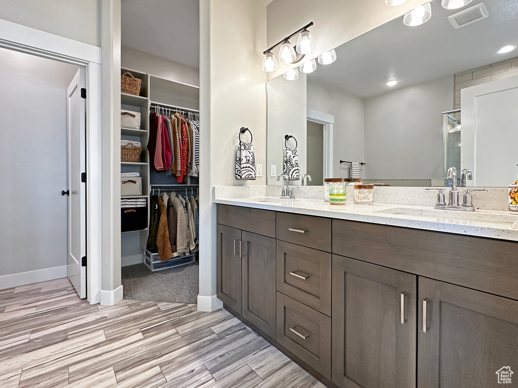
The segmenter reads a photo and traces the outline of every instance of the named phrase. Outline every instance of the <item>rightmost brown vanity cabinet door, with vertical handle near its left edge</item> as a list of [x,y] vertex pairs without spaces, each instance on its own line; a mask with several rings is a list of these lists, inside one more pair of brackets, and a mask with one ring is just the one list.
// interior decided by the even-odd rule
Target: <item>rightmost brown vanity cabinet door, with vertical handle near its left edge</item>
[[518,380],[518,302],[420,277],[418,327],[419,388]]

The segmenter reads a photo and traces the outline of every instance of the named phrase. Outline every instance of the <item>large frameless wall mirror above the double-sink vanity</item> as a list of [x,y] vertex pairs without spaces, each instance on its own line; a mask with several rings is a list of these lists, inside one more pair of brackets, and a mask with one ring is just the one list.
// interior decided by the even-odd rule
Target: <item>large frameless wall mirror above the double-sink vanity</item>
[[[348,162],[365,163],[364,182],[393,186],[449,185],[450,166],[459,186],[464,169],[466,186],[516,180],[518,49],[499,50],[518,46],[518,5],[430,4],[422,25],[401,16],[337,47],[332,64],[268,82],[268,184],[282,184],[272,170],[295,144],[309,185],[349,177]],[[455,28],[449,17],[466,10]]]

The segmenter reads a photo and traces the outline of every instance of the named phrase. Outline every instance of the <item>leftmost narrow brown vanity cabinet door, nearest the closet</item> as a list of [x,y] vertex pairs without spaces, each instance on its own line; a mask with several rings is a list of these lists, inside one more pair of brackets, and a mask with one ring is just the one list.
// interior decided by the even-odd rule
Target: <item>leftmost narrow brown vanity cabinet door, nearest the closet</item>
[[218,225],[217,233],[218,297],[228,307],[241,314],[241,231]]

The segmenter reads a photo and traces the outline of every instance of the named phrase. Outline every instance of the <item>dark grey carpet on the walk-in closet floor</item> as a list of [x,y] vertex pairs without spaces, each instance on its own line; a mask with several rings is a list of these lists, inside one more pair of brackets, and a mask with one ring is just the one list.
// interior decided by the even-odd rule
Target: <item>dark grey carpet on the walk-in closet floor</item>
[[151,272],[144,264],[122,267],[124,299],[171,303],[198,303],[198,261]]

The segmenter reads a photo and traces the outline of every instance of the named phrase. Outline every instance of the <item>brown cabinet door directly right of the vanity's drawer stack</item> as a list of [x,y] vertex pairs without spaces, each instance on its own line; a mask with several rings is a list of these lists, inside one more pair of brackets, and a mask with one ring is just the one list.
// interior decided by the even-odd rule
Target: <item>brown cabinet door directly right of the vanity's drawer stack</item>
[[333,255],[333,382],[415,387],[416,276]]

